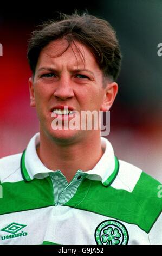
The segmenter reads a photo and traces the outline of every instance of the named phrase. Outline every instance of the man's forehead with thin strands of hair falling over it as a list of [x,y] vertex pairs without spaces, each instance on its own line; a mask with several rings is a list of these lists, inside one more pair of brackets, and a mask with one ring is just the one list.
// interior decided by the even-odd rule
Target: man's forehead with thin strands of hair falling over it
[[42,49],[36,68],[46,64],[90,68],[101,72],[95,57],[87,46],[77,41],[72,42],[69,46],[65,39],[51,41]]

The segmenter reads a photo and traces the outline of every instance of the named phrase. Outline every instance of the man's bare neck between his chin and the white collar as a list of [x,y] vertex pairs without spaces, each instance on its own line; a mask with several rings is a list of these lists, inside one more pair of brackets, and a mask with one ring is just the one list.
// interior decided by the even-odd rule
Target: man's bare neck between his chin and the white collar
[[60,145],[40,132],[37,154],[50,170],[61,170],[69,182],[78,169],[93,169],[103,155],[100,135],[90,136],[70,145]]

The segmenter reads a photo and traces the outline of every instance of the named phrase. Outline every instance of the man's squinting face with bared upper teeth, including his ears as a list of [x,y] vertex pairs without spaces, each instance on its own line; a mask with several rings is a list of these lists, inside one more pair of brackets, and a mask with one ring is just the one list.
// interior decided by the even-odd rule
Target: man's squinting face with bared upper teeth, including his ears
[[[107,95],[108,90],[103,88],[103,72],[93,54],[79,42],[75,41],[75,44],[82,55],[74,44],[60,55],[67,47],[67,41],[59,39],[50,42],[40,53],[34,78],[29,79],[31,106],[36,107],[40,132],[60,142],[83,139],[89,133],[99,134],[100,131],[54,130],[51,124],[56,117],[61,120],[67,118],[58,115],[55,109],[60,106],[72,108],[80,114],[81,120],[82,111],[108,110],[117,93],[116,83],[108,83]],[[113,97],[111,103],[108,97]],[[72,117],[69,115],[69,120]]]

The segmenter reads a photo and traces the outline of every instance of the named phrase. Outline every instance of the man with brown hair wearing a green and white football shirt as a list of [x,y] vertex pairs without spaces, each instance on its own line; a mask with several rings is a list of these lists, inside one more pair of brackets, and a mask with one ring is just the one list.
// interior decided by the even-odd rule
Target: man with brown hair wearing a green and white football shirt
[[1,159],[0,243],[162,243],[159,182],[118,160],[99,127],[81,126],[82,112],[109,111],[118,92],[111,25],[76,13],[47,22],[33,33],[28,60],[40,133]]

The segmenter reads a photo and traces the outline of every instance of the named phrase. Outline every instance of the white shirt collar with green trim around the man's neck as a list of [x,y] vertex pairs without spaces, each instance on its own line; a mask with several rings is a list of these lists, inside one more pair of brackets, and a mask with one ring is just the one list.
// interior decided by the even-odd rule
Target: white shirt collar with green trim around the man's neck
[[[41,162],[36,151],[36,146],[39,141],[40,133],[36,133],[33,138],[30,139],[21,157],[21,172],[26,182],[34,178],[45,178],[49,176],[51,172],[57,171],[48,169]],[[118,174],[119,161],[117,157],[114,156],[113,147],[108,139],[101,137],[101,147],[104,153],[95,167],[87,172],[81,171],[81,173],[85,175],[87,179],[98,180],[101,181],[104,186],[109,186]]]

